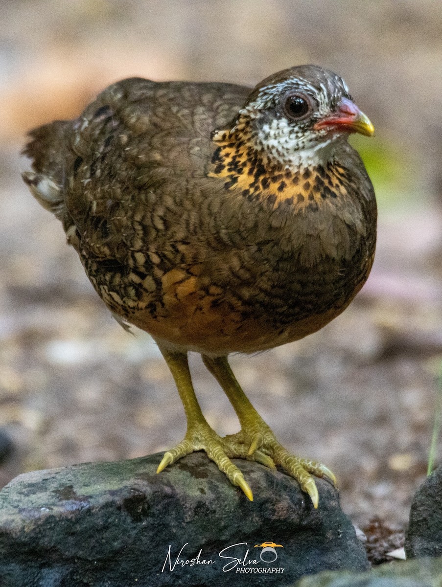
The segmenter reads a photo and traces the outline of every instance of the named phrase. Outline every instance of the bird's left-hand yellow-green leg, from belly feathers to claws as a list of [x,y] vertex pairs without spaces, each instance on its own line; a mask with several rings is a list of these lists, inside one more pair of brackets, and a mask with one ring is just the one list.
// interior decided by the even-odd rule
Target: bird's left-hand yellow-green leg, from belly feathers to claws
[[198,400],[193,390],[192,377],[190,376],[189,364],[186,353],[170,352],[159,346],[163,357],[168,363],[173,379],[175,379],[179,396],[183,403],[187,419],[187,431],[183,440],[175,447],[168,450],[160,464],[157,473],[160,473],[168,465],[175,463],[186,454],[203,450],[207,456],[216,463],[217,467],[227,475],[233,485],[237,485],[246,494],[250,501],[253,501],[252,490],[246,482],[243,474],[237,468],[225,452],[223,440],[212,428],[203,416]]

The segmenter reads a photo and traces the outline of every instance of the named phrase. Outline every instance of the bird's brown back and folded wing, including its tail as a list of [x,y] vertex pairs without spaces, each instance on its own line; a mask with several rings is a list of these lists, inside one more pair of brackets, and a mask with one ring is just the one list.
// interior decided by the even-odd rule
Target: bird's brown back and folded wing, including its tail
[[122,80],[78,119],[31,131],[24,152],[34,173],[24,179],[79,252],[123,262],[129,249],[162,245],[165,219],[179,224],[187,182],[205,175],[212,131],[235,117],[249,92],[225,83]]

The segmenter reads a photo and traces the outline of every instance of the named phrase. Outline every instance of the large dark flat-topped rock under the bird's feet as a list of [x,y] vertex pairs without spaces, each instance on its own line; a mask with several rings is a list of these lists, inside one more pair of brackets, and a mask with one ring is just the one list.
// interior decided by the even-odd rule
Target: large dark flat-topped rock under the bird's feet
[[[317,481],[314,510],[292,478],[239,461],[249,502],[205,454],[156,475],[161,457],[12,480],[0,492],[0,585],[282,586],[323,569],[368,568],[328,481]],[[267,541],[282,547],[264,550]]]

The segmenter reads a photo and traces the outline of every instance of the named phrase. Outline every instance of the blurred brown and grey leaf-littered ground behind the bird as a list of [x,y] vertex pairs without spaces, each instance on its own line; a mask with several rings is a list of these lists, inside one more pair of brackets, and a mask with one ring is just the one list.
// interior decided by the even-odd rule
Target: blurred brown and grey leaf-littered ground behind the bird
[[[253,86],[310,62],[343,76],[376,127],[351,138],[379,201],[376,261],[326,328],[232,366],[286,447],[336,473],[354,522],[403,525],[442,359],[440,2],[3,0],[0,18],[0,487],[36,468],[165,450],[185,433],[155,344],[113,321],[22,183],[26,131],[78,116],[122,77]],[[199,357],[191,365],[210,424],[237,431]]]

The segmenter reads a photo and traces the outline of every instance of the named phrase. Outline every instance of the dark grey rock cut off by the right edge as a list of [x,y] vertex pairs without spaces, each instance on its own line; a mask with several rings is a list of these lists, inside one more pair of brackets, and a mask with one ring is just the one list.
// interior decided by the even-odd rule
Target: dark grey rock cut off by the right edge
[[442,555],[442,467],[438,467],[414,495],[405,535],[407,558]]

